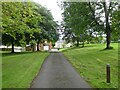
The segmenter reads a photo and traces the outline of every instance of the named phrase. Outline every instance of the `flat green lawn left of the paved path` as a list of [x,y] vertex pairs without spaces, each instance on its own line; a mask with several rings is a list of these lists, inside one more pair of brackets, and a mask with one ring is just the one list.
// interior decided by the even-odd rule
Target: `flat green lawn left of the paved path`
[[2,88],[28,88],[47,52],[3,53],[2,55]]

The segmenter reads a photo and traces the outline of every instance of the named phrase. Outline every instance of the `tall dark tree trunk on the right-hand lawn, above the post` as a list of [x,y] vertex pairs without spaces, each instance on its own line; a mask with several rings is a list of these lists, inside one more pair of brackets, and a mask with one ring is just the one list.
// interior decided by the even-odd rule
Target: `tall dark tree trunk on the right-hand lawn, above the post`
[[106,49],[110,48],[110,40],[111,40],[111,28],[110,28],[110,23],[109,23],[109,12],[107,10],[107,5],[106,2],[103,3],[104,6],[104,11],[105,11],[105,21],[106,21]]

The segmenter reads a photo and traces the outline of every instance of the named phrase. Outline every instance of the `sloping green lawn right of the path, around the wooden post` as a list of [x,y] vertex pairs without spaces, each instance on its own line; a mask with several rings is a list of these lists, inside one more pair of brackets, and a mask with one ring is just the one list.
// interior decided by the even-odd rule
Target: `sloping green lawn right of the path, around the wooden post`
[[[94,88],[118,87],[118,44],[103,50],[105,44],[91,44],[84,48],[63,50],[65,57],[79,74]],[[111,66],[111,83],[106,83],[106,64]]]

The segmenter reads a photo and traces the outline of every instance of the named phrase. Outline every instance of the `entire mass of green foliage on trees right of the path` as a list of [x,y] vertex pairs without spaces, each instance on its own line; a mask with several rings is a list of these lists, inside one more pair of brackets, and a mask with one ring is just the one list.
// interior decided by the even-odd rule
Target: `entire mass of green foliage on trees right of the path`
[[119,26],[116,23],[118,7],[117,2],[63,2],[64,38],[71,37],[72,41],[84,42],[90,38],[92,40],[95,37],[94,32],[97,32],[98,36],[106,34],[106,48],[110,48],[111,34],[115,38],[119,32],[118,27],[116,28]]

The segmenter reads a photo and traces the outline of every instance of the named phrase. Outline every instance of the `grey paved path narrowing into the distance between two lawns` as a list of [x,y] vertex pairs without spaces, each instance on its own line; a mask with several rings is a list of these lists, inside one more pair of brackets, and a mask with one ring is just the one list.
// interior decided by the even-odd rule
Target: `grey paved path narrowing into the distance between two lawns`
[[62,53],[51,53],[31,88],[90,88]]

